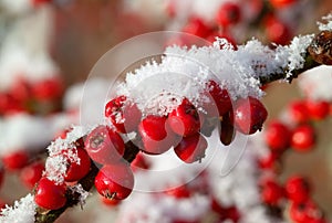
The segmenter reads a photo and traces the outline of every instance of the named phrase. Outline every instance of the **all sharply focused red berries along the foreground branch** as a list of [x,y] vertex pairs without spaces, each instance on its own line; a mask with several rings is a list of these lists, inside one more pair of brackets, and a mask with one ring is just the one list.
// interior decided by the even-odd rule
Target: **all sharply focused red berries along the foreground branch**
[[[124,158],[126,150],[131,149],[128,142],[134,141],[137,151],[147,155],[160,155],[174,147],[183,161],[191,163],[205,157],[208,142],[204,136],[210,136],[217,124],[221,123],[220,140],[225,145],[231,142],[235,129],[247,135],[261,129],[267,110],[260,100],[240,98],[232,106],[227,89],[215,81],[209,81],[206,89],[211,102],[203,106],[205,113],[188,98],[183,98],[167,116],[144,116],[138,106],[125,96],[111,99],[105,106],[105,117],[112,125],[100,125],[75,142],[80,164],[68,159],[63,183],[53,182],[46,176],[41,178],[35,188],[37,204],[51,210],[65,205],[68,185],[90,171],[90,159],[100,167],[94,184],[106,203],[114,204],[127,198],[134,188],[133,170],[148,168],[142,153],[136,152],[131,160]],[[217,112],[214,113],[214,109]],[[123,138],[128,138],[124,136],[131,132],[136,132],[136,139],[125,144]],[[64,150],[61,156],[66,157],[71,153],[69,151]]]

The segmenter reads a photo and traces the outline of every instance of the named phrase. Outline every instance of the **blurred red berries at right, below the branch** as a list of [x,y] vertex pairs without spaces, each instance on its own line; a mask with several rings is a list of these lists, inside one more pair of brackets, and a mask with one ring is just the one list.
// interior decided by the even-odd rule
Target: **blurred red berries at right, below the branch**
[[[330,104],[312,99],[294,100],[289,104],[287,110],[294,127],[273,120],[266,129],[264,139],[270,153],[259,160],[264,172],[277,173],[281,156],[288,148],[304,152],[314,147],[315,132],[310,121],[326,118],[330,114]],[[322,211],[310,198],[309,182],[301,176],[291,177],[284,187],[271,178],[263,180],[261,195],[264,203],[274,208],[281,208],[283,201],[289,200],[289,217],[297,223],[326,222]]]

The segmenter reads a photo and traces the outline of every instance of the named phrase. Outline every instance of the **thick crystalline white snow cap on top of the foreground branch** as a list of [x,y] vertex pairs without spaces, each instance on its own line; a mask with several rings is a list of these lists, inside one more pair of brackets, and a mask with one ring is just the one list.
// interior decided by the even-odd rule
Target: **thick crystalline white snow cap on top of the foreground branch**
[[170,46],[159,63],[149,61],[127,73],[125,82],[117,85],[117,95],[133,99],[145,115],[166,115],[184,97],[200,109],[209,79],[226,88],[234,100],[260,98],[263,92],[259,77],[288,72],[288,78],[291,72],[302,68],[312,38],[295,36],[290,45],[276,50],[255,39],[237,51],[229,45],[220,50],[222,39],[217,39],[212,46]]

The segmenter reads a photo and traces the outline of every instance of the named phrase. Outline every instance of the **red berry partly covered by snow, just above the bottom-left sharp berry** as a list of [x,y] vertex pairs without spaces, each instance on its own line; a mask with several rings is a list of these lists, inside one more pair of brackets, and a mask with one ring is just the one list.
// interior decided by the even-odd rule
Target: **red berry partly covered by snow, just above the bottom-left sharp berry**
[[87,155],[87,152],[83,149],[77,147],[77,158],[80,159],[80,163],[71,162],[69,160],[69,167],[66,169],[66,174],[64,177],[64,180],[66,182],[73,182],[81,180],[84,176],[87,174],[91,166],[91,160]]

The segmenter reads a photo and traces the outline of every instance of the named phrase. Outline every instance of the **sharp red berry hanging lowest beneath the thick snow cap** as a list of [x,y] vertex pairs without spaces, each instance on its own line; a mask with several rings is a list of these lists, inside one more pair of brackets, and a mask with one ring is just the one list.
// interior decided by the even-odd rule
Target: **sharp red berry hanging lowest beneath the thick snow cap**
[[205,157],[207,146],[207,140],[200,134],[196,134],[183,138],[174,151],[184,162],[193,163]]

